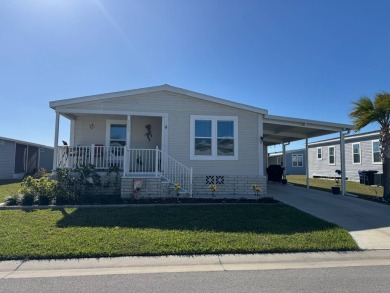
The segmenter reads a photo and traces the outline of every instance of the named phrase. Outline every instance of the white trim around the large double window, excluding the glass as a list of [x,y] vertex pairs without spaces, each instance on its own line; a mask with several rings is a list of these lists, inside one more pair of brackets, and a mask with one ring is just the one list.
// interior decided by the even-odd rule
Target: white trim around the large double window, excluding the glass
[[[195,121],[210,120],[211,121],[211,155],[195,155]],[[233,121],[234,131],[234,155],[233,156],[218,156],[218,121]],[[211,116],[211,115],[190,115],[190,160],[215,160],[229,161],[238,160],[238,117],[237,116]]]

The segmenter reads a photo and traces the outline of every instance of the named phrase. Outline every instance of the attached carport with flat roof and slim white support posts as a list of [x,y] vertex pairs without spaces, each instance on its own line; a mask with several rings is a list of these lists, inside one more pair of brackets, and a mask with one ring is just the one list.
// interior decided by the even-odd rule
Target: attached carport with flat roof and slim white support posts
[[[263,136],[264,148],[273,145],[282,145],[283,162],[286,162],[286,145],[290,142],[305,140],[306,145],[306,187],[309,188],[308,140],[318,136],[339,133],[341,170],[345,170],[345,143],[344,136],[354,129],[353,125],[307,120],[274,115],[264,115]],[[267,153],[267,152],[265,152]],[[344,174],[344,172],[342,173]],[[345,176],[341,176],[342,194],[345,194]]]

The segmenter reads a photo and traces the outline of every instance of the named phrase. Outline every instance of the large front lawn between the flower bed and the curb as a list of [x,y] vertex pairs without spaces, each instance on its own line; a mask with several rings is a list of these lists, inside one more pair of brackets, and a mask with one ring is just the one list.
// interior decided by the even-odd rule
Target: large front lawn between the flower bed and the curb
[[358,249],[284,204],[0,210],[0,239],[3,260]]

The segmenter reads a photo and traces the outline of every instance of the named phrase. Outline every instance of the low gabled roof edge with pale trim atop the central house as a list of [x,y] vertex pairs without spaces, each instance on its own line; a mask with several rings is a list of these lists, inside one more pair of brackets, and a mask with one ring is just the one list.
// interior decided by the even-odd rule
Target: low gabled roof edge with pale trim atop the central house
[[127,90],[127,91],[120,91],[120,92],[113,92],[113,93],[106,93],[106,94],[99,94],[99,95],[93,95],[93,96],[85,96],[85,97],[78,97],[78,98],[72,98],[72,99],[64,99],[64,100],[57,100],[57,101],[51,101],[50,107],[52,109],[56,109],[57,107],[61,106],[68,106],[68,105],[74,105],[74,104],[80,104],[80,103],[88,103],[88,102],[97,102],[97,101],[105,101],[110,99],[116,99],[126,96],[135,96],[135,95],[142,95],[142,94],[151,94],[151,93],[157,93],[157,92],[170,92],[174,94],[179,95],[185,95],[191,98],[196,98],[208,102],[213,102],[225,106],[230,106],[233,108],[238,108],[242,110],[247,110],[259,114],[267,114],[268,111],[265,109],[257,108],[248,106],[245,104],[232,102],[228,100],[224,100],[221,98],[216,98],[213,96],[189,91],[186,89],[174,87],[168,84],[159,85],[159,86],[153,86],[153,87],[146,87],[141,89],[134,89],[134,90]]

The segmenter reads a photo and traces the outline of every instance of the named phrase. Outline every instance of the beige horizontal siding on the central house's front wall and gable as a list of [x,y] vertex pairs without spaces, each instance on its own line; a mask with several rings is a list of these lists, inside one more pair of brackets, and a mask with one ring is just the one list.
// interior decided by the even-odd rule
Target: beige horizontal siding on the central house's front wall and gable
[[[76,108],[75,105],[68,108]],[[61,107],[59,110],[64,110]],[[154,93],[122,97],[109,101],[83,103],[77,109],[94,111],[126,111],[129,114],[149,113],[168,115],[168,154],[188,167],[194,174],[210,175],[258,175],[257,113],[207,102],[172,93]],[[138,113],[138,114],[137,114]],[[190,160],[190,116],[237,116],[238,117],[238,160],[235,161],[194,161]],[[88,124],[93,117],[95,128]],[[117,119],[116,116],[110,119]],[[122,116],[124,119],[125,116]],[[91,144],[104,142],[105,120],[100,115],[81,116],[76,121],[76,142]],[[141,130],[140,130],[141,131]],[[143,131],[143,130],[142,130]]]

